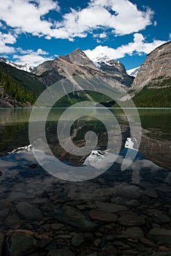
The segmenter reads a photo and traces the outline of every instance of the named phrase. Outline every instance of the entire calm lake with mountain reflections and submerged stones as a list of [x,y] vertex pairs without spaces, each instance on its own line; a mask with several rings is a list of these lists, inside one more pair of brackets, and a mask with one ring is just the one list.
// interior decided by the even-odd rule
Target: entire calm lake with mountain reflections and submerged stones
[[0,109],[0,254],[169,256],[171,110],[65,110]]

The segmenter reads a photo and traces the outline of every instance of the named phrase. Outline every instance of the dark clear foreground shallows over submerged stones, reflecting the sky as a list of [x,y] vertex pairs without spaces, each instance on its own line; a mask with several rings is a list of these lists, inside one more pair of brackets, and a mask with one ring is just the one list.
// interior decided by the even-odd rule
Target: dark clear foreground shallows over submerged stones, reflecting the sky
[[[118,160],[101,176],[51,176],[31,152],[0,158],[1,256],[170,256],[170,171]],[[58,168],[58,167],[56,167]]]

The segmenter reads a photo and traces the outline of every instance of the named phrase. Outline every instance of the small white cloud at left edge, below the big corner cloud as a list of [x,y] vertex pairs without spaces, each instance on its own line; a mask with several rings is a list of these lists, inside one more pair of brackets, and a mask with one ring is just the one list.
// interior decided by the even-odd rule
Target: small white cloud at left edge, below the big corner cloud
[[13,36],[12,34],[4,34],[0,31],[0,53],[14,53],[15,48],[9,45],[14,44],[15,42],[15,36]]

